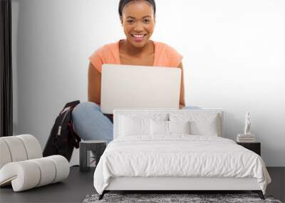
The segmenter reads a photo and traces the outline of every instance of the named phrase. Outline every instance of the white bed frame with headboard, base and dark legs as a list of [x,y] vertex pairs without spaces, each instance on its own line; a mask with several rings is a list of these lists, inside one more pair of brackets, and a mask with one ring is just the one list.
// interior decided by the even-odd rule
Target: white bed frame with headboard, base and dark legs
[[[117,109],[114,110],[114,139],[118,137],[119,116],[130,113],[214,113],[219,115],[220,136],[224,136],[224,111],[222,109],[199,109],[199,110],[177,110],[177,109]],[[116,177],[111,178],[108,187],[105,188],[99,199],[111,191],[131,192],[155,192],[164,193],[188,193],[193,191],[252,191],[264,199],[263,192],[256,178],[235,177]]]

